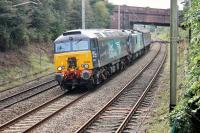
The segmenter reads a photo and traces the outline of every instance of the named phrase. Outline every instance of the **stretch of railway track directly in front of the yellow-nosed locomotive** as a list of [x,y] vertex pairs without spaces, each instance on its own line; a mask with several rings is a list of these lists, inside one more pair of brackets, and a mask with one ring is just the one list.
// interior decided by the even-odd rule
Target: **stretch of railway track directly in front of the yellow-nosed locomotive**
[[[153,60],[153,59],[152,59]],[[146,65],[145,67],[147,67]],[[143,70],[138,72],[141,73]],[[82,98],[87,96],[89,92],[79,95],[76,99],[71,102],[66,103],[65,94],[61,94],[58,97],[36,107],[23,115],[0,125],[0,132],[28,132],[32,131],[37,126],[44,123],[46,120],[52,118],[54,115],[58,114],[62,110],[68,108],[74,103],[80,101]]]

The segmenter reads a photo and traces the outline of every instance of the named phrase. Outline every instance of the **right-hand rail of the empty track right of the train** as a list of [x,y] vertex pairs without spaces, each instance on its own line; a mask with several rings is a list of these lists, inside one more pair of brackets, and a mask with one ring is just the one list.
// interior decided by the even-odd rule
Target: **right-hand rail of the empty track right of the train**
[[161,68],[162,68],[162,66],[163,66],[163,64],[165,62],[166,56],[167,56],[167,52],[165,52],[164,58],[163,58],[163,60],[162,60],[162,62],[160,64],[159,68],[157,69],[157,71],[154,74],[153,78],[149,82],[148,86],[145,88],[145,91],[142,93],[142,95],[140,96],[140,98],[138,99],[136,104],[133,106],[133,108],[131,109],[131,111],[129,112],[129,114],[124,119],[124,121],[122,122],[122,124],[120,125],[120,127],[117,129],[117,131],[115,133],[121,133],[123,131],[123,129],[126,127],[126,125],[128,124],[128,122],[131,120],[131,117],[133,116],[133,114],[137,111],[138,107],[140,106],[140,104],[144,100],[145,96],[147,95],[147,93],[151,89],[151,86],[152,86],[153,82],[157,78],[157,75],[160,72],[160,70],[161,70]]

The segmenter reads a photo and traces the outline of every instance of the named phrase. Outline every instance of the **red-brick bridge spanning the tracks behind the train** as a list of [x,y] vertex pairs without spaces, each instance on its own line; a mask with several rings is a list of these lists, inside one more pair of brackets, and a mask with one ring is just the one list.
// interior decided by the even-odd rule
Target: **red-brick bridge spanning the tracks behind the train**
[[[170,26],[170,9],[120,6],[120,28],[130,29],[134,24]],[[118,6],[112,15],[112,28],[118,28]]]

